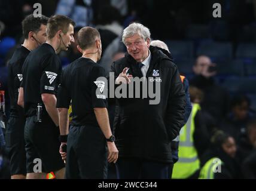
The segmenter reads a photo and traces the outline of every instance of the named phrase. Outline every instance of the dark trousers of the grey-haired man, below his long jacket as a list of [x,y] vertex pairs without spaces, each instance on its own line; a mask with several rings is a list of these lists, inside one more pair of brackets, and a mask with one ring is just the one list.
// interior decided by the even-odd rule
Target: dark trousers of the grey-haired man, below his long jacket
[[146,161],[137,158],[119,158],[117,160],[117,178],[119,179],[169,179],[172,164]]

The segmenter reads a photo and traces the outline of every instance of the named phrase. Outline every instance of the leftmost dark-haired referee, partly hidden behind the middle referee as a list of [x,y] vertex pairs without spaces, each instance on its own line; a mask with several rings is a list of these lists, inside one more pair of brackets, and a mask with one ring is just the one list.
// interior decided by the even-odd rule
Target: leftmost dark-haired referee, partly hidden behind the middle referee
[[23,108],[17,105],[20,82],[22,81],[22,66],[28,54],[46,41],[46,24],[48,17],[27,16],[22,21],[25,41],[16,49],[8,64],[8,90],[11,110],[7,123],[5,140],[10,159],[12,179],[26,178],[26,152],[24,140],[25,114]]

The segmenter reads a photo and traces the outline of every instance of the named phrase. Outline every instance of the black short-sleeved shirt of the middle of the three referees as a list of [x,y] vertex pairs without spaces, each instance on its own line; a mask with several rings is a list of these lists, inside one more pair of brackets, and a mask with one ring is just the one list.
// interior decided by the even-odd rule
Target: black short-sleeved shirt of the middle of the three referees
[[22,71],[25,115],[32,116],[36,114],[38,103],[44,106],[41,94],[56,95],[62,68],[53,47],[44,43],[29,54]]

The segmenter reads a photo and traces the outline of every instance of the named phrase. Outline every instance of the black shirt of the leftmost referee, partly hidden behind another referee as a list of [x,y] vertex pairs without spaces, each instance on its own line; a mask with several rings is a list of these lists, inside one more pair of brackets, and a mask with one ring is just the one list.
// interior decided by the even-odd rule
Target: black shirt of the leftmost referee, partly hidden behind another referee
[[20,82],[22,82],[22,66],[30,52],[27,48],[20,46],[13,53],[8,64],[8,91],[10,95],[11,117],[24,116],[23,108],[18,106],[17,101]]

